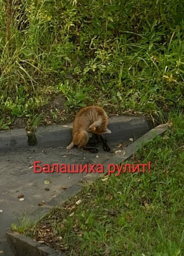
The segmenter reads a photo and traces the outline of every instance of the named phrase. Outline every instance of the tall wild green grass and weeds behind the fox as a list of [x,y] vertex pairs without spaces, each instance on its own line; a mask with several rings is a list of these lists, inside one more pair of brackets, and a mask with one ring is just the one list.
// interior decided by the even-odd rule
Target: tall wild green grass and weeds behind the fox
[[[161,121],[183,106],[182,1],[13,0],[10,40],[0,1],[0,128],[17,118],[68,120],[89,104],[109,114],[136,112]],[[30,122],[31,121],[31,122]],[[28,126],[29,126],[28,125]],[[34,124],[33,124],[34,126]]]

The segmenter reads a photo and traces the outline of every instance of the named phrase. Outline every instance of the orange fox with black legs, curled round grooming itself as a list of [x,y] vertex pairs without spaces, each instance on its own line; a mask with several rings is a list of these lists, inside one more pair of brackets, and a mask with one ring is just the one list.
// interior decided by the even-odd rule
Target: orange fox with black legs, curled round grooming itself
[[107,128],[107,124],[108,117],[103,108],[99,106],[88,106],[80,109],[75,116],[72,132],[73,138],[67,149],[70,150],[77,145],[78,148],[97,153],[97,148],[86,147],[92,135],[96,134],[98,140],[103,143],[104,151],[109,152],[110,148],[107,146],[107,142],[102,135],[103,133],[111,133]]

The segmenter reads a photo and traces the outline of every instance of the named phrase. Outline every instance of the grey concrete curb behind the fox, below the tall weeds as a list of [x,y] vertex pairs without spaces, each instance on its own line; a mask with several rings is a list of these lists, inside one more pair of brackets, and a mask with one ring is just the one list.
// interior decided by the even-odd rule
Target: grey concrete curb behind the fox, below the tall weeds
[[[130,138],[142,136],[149,130],[148,123],[143,117],[111,117],[109,118],[109,129],[112,134],[106,134],[108,141],[118,137]],[[65,125],[41,126],[35,132],[38,147],[67,146],[72,138],[72,123]],[[25,129],[14,129],[0,132],[0,151],[28,148]]]

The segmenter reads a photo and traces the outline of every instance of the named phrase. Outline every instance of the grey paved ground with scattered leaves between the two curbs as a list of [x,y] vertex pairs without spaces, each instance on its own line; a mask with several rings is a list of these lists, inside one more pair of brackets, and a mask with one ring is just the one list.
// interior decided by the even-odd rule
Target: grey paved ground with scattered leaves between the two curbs
[[[131,141],[111,142],[111,151],[119,143],[130,144]],[[31,147],[24,151],[17,150],[0,154],[0,251],[2,256],[13,256],[5,238],[5,232],[16,223],[24,213],[36,211],[40,206],[38,203],[44,200],[51,202],[52,198],[59,193],[64,193],[62,186],[71,187],[80,182],[86,173],[33,173],[33,162],[42,161],[44,164],[69,164],[69,163],[104,163],[114,153],[104,152],[102,145],[98,147],[97,154],[82,152],[77,148],[66,150],[65,147]],[[96,156],[99,156],[96,158]],[[46,185],[44,180],[50,179],[51,183]],[[49,191],[45,188],[48,187]],[[24,201],[19,201],[18,195],[24,194]]]

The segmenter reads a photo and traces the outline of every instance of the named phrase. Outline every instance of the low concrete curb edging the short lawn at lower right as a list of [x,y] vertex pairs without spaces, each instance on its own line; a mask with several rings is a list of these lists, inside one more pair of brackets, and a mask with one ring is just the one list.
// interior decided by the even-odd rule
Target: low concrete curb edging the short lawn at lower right
[[[167,124],[161,124],[156,128],[153,128],[142,137],[137,139],[137,141],[133,142],[126,148],[126,154],[124,155],[123,152],[120,152],[118,155],[112,156],[106,163],[104,163],[104,169],[107,170],[108,164],[119,164],[123,161],[128,160],[137,150],[144,147],[150,140],[153,140],[157,135],[163,134],[167,130]],[[112,174],[113,175],[113,174]],[[96,178],[104,176],[104,173],[89,173],[84,176],[83,180],[87,182],[93,182]],[[38,219],[40,215],[44,217],[51,208],[60,205],[73,195],[76,195],[82,189],[81,184],[75,184],[66,191],[60,193],[57,197],[53,198],[51,201],[46,202],[44,207],[38,208],[34,212],[34,219]],[[64,254],[59,254],[56,250],[51,249],[47,246],[41,246],[40,243],[33,241],[31,238],[26,236],[22,236],[17,232],[10,232],[6,233],[7,241],[12,248],[15,256],[66,256]]]

